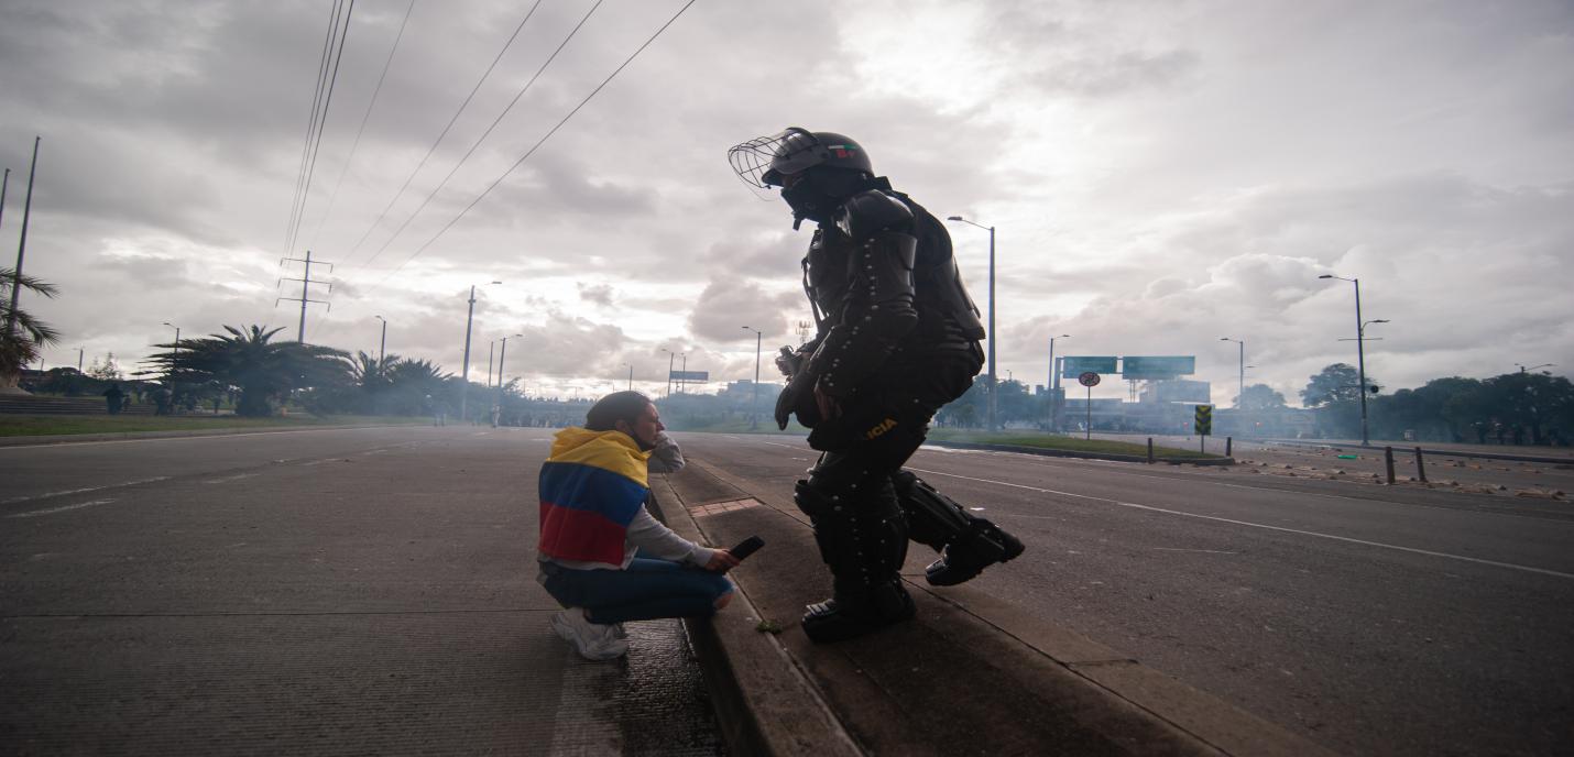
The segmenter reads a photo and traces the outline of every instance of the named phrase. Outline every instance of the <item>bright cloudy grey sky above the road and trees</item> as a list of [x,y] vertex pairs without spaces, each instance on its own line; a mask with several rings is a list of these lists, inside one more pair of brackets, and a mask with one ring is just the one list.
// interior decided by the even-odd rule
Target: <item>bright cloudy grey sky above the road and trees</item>
[[[998,228],[1001,378],[1042,384],[1070,334],[1058,354],[1196,356],[1229,404],[1229,337],[1295,403],[1355,362],[1354,286],[1321,274],[1391,321],[1368,330],[1385,389],[1574,367],[1561,0],[697,0],[565,123],[685,0],[357,0],[291,246],[332,8],[0,0],[0,257],[42,135],[25,271],[61,296],[24,307],[65,334],[49,365],[134,365],[164,321],[293,338],[280,258],[312,250],[313,343],[376,351],[381,315],[390,353],[456,373],[480,285],[475,381],[513,334],[532,392],[628,365],[660,389],[663,349],[752,378],[743,326],[770,353],[807,318],[809,231],[726,150],[803,126]],[[982,305],[988,234],[951,231]]]

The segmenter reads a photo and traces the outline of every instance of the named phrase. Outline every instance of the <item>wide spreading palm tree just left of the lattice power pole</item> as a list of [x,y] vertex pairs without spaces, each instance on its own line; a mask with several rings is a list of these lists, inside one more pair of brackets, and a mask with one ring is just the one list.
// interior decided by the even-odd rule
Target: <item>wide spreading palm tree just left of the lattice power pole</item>
[[214,334],[157,345],[168,351],[148,362],[168,373],[170,381],[216,381],[239,389],[241,398],[235,408],[238,415],[269,415],[274,401],[293,389],[332,386],[346,379],[348,354],[342,349],[271,342],[283,329],[250,326],[241,330],[225,326],[224,330],[230,335]]

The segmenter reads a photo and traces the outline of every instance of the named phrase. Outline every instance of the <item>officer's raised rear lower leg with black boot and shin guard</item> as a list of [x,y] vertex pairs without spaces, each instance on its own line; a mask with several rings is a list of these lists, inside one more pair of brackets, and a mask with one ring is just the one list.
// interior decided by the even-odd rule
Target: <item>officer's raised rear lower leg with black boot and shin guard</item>
[[940,559],[924,568],[924,578],[932,585],[957,585],[996,562],[1022,554],[1023,546],[1017,537],[968,513],[929,482],[907,471],[891,474],[891,482],[913,540],[940,552]]

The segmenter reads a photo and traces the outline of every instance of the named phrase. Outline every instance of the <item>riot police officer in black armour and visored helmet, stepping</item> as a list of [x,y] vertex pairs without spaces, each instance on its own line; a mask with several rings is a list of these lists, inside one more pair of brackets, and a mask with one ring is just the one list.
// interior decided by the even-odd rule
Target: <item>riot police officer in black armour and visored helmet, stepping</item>
[[834,589],[807,607],[804,633],[817,642],[861,636],[913,617],[899,574],[908,538],[941,552],[926,570],[937,585],[1023,551],[902,469],[929,420],[984,365],[984,326],[944,225],[875,176],[852,138],[789,127],[727,159],[746,183],[781,189],[795,230],[815,223],[803,280],[817,335],[776,360],[789,376],[776,422],[785,428],[796,414],[822,452],[793,500],[814,523]]

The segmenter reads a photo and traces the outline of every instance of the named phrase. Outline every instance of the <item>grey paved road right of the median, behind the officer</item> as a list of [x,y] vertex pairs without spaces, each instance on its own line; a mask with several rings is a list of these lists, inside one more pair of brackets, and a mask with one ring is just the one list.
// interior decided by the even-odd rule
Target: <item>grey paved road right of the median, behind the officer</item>
[[[680,442],[779,496],[812,456]],[[1335,751],[1574,744],[1566,502],[938,449],[911,467],[1029,545],[973,585]]]

